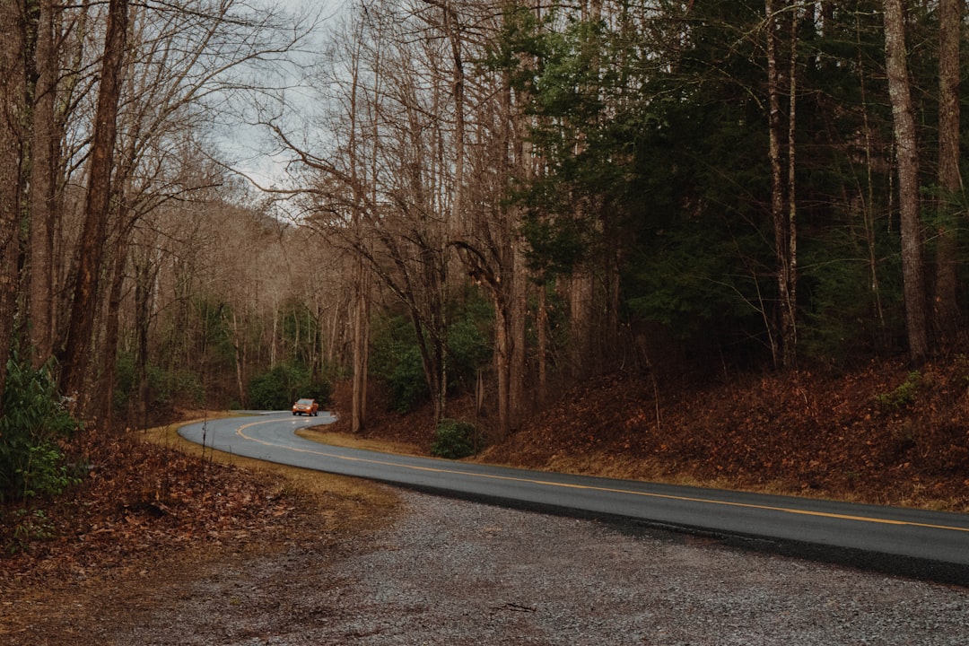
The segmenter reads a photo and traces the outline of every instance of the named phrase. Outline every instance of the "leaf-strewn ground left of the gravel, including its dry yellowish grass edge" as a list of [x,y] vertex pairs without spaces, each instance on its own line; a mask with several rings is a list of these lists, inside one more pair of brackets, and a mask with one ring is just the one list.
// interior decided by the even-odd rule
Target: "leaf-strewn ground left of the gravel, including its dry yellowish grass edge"
[[[0,555],[0,643],[97,642],[92,617],[137,630],[144,613],[227,564],[277,552],[323,559],[397,504],[352,478],[199,455],[173,431],[92,434],[72,448],[90,465],[82,485],[26,514],[0,508],[0,544],[21,547]],[[15,537],[25,528],[34,540]]]

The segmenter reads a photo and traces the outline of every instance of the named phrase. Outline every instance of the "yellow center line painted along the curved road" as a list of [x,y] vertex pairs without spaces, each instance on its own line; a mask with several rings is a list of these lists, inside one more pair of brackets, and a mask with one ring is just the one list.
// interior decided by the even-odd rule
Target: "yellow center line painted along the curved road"
[[252,422],[252,423],[249,423],[249,424],[244,424],[242,426],[239,426],[236,429],[235,434],[238,435],[241,438],[244,438],[244,439],[249,440],[251,442],[259,443],[259,444],[264,445],[264,446],[274,446],[276,448],[285,448],[287,450],[297,451],[299,453],[309,453],[309,454],[312,454],[312,455],[321,455],[321,456],[324,456],[324,457],[332,457],[332,458],[337,458],[337,459],[340,459],[340,460],[347,460],[347,461],[350,461],[350,462],[363,462],[363,463],[367,463],[367,464],[376,464],[376,465],[383,465],[383,466],[389,466],[389,467],[399,467],[399,468],[404,468],[404,469],[411,469],[413,471],[426,471],[426,472],[437,473],[437,474],[451,474],[451,475],[454,475],[454,476],[480,477],[480,478],[486,478],[486,479],[492,479],[492,480],[504,480],[504,481],[510,481],[510,482],[525,482],[525,483],[528,483],[528,484],[539,484],[539,485],[544,485],[544,486],[549,486],[549,487],[562,487],[562,488],[567,488],[567,489],[586,489],[586,490],[589,490],[589,491],[602,491],[602,492],[607,492],[607,493],[629,494],[629,495],[633,495],[633,496],[642,496],[643,498],[656,498],[656,499],[672,500],[672,501],[679,501],[679,502],[686,502],[686,503],[704,503],[704,504],[707,504],[707,505],[720,505],[720,506],[723,506],[723,507],[761,509],[761,510],[766,510],[766,511],[782,511],[782,512],[785,512],[785,513],[795,513],[795,514],[801,514],[801,515],[805,515],[805,516],[818,516],[818,517],[823,517],[823,518],[837,518],[837,519],[840,519],[840,520],[855,520],[855,521],[865,522],[865,523],[879,523],[879,524],[882,524],[882,525],[907,525],[907,526],[910,526],[910,527],[922,527],[922,528],[933,529],[933,530],[952,530],[953,532],[966,532],[966,533],[969,533],[969,528],[967,528],[967,527],[953,527],[953,526],[950,526],[950,525],[933,525],[933,524],[930,524],[930,523],[914,523],[914,522],[910,522],[910,521],[906,521],[906,520],[891,520],[890,518],[876,518],[876,517],[871,517],[871,516],[856,516],[856,515],[843,514],[843,513],[830,513],[828,511],[812,511],[812,510],[809,510],[809,509],[796,509],[796,508],[786,508],[786,507],[772,507],[772,506],[768,506],[768,505],[754,505],[752,503],[734,503],[734,502],[730,502],[730,501],[710,500],[710,499],[707,499],[707,498],[694,498],[694,497],[691,497],[691,496],[674,496],[672,494],[651,493],[651,492],[646,492],[646,491],[631,491],[629,489],[617,489],[617,488],[613,488],[613,487],[601,487],[601,486],[594,486],[594,485],[588,485],[588,484],[574,484],[574,483],[569,483],[569,482],[553,482],[553,481],[550,481],[550,480],[542,480],[542,479],[536,479],[536,478],[530,478],[530,477],[497,476],[497,475],[493,475],[493,474],[476,474],[476,473],[472,473],[472,472],[468,472],[468,471],[459,471],[459,470],[456,470],[456,469],[439,469],[439,468],[436,468],[436,467],[422,467],[422,466],[417,466],[417,465],[401,464],[399,462],[390,462],[390,461],[386,461],[386,460],[375,460],[375,459],[372,459],[372,458],[353,457],[353,456],[349,456],[349,455],[337,455],[335,453],[328,453],[326,451],[317,451],[317,450],[312,450],[312,449],[309,449],[309,448],[297,448],[295,446],[285,446],[285,445],[276,444],[276,443],[273,443],[273,442],[267,442],[266,440],[260,440],[259,438],[254,438],[252,436],[249,436],[249,435],[246,435],[245,433],[243,433],[244,430],[246,430],[246,429],[248,429],[248,428],[250,428],[252,426],[257,426],[259,424],[273,423],[275,421],[277,421],[277,420],[263,420],[263,421],[255,421],[255,422]]

